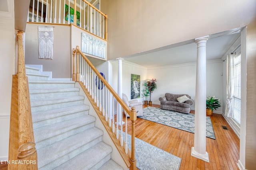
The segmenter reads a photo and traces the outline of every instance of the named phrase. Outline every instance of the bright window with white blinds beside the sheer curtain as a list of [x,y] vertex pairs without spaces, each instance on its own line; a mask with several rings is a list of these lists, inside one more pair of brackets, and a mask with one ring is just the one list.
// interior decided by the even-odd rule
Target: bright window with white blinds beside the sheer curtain
[[241,53],[235,56],[234,69],[234,121],[240,125],[241,114]]

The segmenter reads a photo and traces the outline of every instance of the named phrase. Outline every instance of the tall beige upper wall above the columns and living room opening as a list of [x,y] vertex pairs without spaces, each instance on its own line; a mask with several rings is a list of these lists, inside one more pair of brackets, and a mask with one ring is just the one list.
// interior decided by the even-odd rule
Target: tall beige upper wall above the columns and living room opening
[[241,27],[256,18],[255,0],[101,0],[100,4],[108,14],[110,59]]

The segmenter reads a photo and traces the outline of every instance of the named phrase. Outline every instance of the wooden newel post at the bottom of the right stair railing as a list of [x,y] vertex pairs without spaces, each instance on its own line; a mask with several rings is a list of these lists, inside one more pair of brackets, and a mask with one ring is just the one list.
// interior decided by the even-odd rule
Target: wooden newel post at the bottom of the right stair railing
[[130,163],[131,163],[131,170],[135,170],[136,169],[136,158],[135,158],[135,121],[137,119],[137,111],[135,109],[135,107],[132,107],[131,110],[131,115],[130,115],[130,120],[132,121],[132,146],[131,146],[131,159],[130,159]]

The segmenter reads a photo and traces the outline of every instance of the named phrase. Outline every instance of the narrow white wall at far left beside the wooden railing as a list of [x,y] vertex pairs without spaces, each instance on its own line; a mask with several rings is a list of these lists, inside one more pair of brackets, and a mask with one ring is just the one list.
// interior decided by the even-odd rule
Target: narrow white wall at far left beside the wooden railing
[[[0,6],[4,1],[0,2]],[[15,74],[14,1],[0,11],[0,160],[8,160],[12,75]]]

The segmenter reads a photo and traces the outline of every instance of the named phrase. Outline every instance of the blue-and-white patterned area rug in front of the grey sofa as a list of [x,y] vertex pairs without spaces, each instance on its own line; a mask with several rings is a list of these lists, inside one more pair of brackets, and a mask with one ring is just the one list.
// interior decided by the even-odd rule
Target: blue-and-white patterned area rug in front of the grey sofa
[[[191,113],[184,114],[148,106],[143,109],[143,116],[138,117],[191,133],[195,131],[195,115]],[[212,121],[208,116],[206,116],[206,137],[215,139]]]

